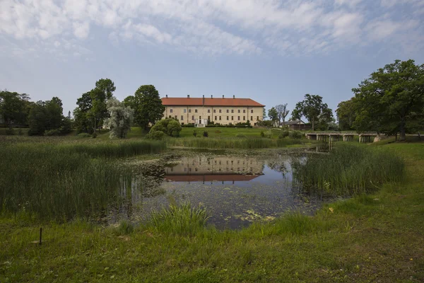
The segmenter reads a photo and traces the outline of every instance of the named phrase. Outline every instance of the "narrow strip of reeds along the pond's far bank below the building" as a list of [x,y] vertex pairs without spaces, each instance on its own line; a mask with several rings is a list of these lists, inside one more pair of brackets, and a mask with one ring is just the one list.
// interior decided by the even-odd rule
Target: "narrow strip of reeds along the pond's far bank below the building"
[[267,149],[309,142],[302,139],[264,138],[180,138],[167,139],[168,146],[186,146],[203,149]]

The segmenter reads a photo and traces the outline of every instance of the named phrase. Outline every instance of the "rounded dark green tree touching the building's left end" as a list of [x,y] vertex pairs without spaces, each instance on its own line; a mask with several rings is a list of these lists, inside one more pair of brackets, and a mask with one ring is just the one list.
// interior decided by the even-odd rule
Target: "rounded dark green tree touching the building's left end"
[[125,98],[124,103],[134,109],[134,121],[143,129],[148,129],[149,124],[154,125],[165,111],[159,93],[152,85],[140,86],[134,96]]

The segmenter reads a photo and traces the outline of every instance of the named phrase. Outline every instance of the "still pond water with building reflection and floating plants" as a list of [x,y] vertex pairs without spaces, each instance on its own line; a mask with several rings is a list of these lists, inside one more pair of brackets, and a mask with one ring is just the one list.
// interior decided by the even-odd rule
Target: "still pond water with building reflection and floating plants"
[[[110,220],[143,221],[151,209],[170,202],[190,201],[205,207],[208,223],[218,229],[239,229],[252,221],[271,221],[289,211],[312,214],[322,197],[304,195],[293,180],[288,154],[272,157],[196,154],[182,157],[143,174],[122,194],[127,202],[112,212]],[[303,157],[304,158],[304,157]]]

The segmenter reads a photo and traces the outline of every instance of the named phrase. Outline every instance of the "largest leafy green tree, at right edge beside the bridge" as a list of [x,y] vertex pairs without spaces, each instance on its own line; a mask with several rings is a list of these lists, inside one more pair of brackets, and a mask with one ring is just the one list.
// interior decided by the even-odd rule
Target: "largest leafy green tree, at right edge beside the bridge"
[[405,140],[408,124],[423,114],[424,64],[396,60],[377,69],[352,91],[358,131],[400,132],[400,139]]

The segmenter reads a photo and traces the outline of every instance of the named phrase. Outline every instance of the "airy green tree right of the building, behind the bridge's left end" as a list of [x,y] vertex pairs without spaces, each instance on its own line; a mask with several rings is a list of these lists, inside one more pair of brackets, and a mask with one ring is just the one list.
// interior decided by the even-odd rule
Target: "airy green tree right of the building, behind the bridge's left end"
[[321,96],[305,94],[305,99],[296,103],[296,107],[292,111],[292,120],[300,120],[302,116],[305,116],[312,124],[312,131],[314,131],[317,123],[321,122],[323,125],[325,122],[330,122],[333,112],[326,103],[322,103]]

